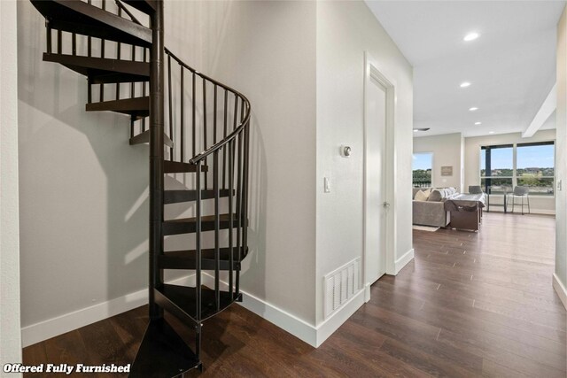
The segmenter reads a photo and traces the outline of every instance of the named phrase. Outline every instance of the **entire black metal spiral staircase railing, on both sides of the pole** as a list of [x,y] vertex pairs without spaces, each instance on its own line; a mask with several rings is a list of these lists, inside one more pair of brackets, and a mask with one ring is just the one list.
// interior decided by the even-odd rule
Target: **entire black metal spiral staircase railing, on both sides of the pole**
[[[95,6],[95,2],[91,0],[83,0],[82,2]],[[128,6],[120,0],[99,0],[96,5],[106,12],[112,12],[120,18],[128,19],[144,26],[140,20],[136,19],[135,14],[128,9]],[[163,14],[160,13],[160,16],[162,17]],[[148,20],[147,25],[145,25],[149,27],[151,23],[154,24],[152,29],[152,38],[154,39],[157,35],[160,35],[161,38],[163,37],[162,23],[159,23],[161,30],[159,33],[156,33],[156,20],[157,18],[153,19],[153,22]],[[227,246],[221,247],[220,237],[221,222],[225,223],[225,221],[228,223],[229,228],[229,297],[233,301],[240,297],[239,268],[235,269],[235,266],[239,266],[236,263],[239,263],[245,257],[248,242],[247,196],[251,118],[249,101],[237,90],[231,89],[220,81],[215,81],[188,66],[181,58],[175,56],[172,51],[166,48],[156,51],[155,41],[153,42],[152,50],[150,50],[148,47],[137,46],[127,42],[115,42],[91,35],[64,32],[52,27],[49,21],[46,21],[46,27],[47,54],[55,52],[57,54],[69,54],[86,58],[109,58],[130,62],[144,62],[151,66],[152,74],[158,72],[159,75],[165,76],[165,82],[159,82],[159,96],[151,99],[150,116],[152,124],[158,119],[158,123],[163,122],[161,123],[163,125],[163,133],[172,143],[169,144],[167,149],[151,147],[151,159],[156,158],[154,156],[155,151],[161,150],[158,153],[158,155],[161,155],[159,156],[160,163],[164,160],[170,160],[191,164],[196,167],[195,180],[187,184],[187,189],[195,189],[197,194],[195,203],[196,320],[200,323],[202,298],[201,258],[204,239],[202,235],[202,220],[205,216],[214,217],[214,291],[217,310],[221,307],[221,248],[227,248]],[[53,46],[53,35],[57,38],[55,47]],[[69,37],[71,49],[67,50],[64,47],[68,47],[66,42],[69,40]],[[153,58],[151,55],[154,55]],[[160,62],[161,64],[156,63],[158,55],[165,56],[165,60]],[[155,92],[152,93],[151,90],[155,91],[155,88],[158,87],[158,85],[155,85],[155,80],[157,79],[153,77],[154,89],[151,88],[151,83],[147,78],[131,78],[131,75],[125,75],[120,80],[105,82],[105,80],[93,79],[89,74],[88,80],[89,104],[108,101],[108,97],[105,94],[113,95],[111,100],[153,96]],[[163,90],[161,90],[162,87]],[[159,98],[159,105],[156,105],[155,98]],[[163,109],[166,109],[166,114],[159,114],[158,117],[156,112],[163,113]],[[131,116],[131,138],[146,132],[148,129],[146,119],[147,117],[139,114]],[[153,128],[154,132],[150,134],[151,141],[153,141],[150,143],[151,146],[155,146],[155,141],[158,140],[155,128]],[[161,130],[161,127],[159,127],[159,130]],[[159,136],[159,140],[161,140],[161,136]],[[153,166],[151,174],[159,173],[159,175],[163,176],[163,165],[159,166],[156,164],[154,166],[154,163],[151,162],[151,166]],[[151,177],[150,181],[158,181],[157,176]],[[162,191],[163,181],[154,189]],[[202,190],[211,189],[214,192],[213,210],[203,205],[202,197]],[[228,193],[226,194],[228,197],[228,211],[225,213],[221,213],[221,190],[223,193]],[[153,198],[154,193],[152,193],[152,189],[150,191],[150,195]],[[159,211],[155,212],[155,214],[158,214],[157,218],[155,220],[151,218],[151,222],[152,220],[155,222],[159,217],[161,222],[163,222],[163,193],[155,198],[159,198],[161,203],[158,204],[158,207],[160,206],[158,208]],[[153,202],[156,202],[155,199]],[[154,205],[151,200],[151,208]],[[206,214],[206,212],[209,213]],[[211,214],[210,212],[213,213]],[[227,219],[225,220],[224,217]],[[153,239],[151,236],[151,245],[153,245],[152,240],[156,238],[159,238],[161,242],[163,241],[161,230],[156,231],[153,227],[151,226],[151,235],[154,236]],[[159,250],[159,245],[162,245],[162,243],[156,243],[155,246],[151,246],[150,254],[163,254],[163,251],[157,251]],[[154,287],[163,284],[163,277],[159,277],[159,273],[156,273],[156,267],[157,263],[154,264],[153,271],[151,268],[150,274],[154,274],[154,278],[156,278],[151,283]],[[150,295],[150,302],[151,304],[153,302],[152,294]],[[199,329],[198,327],[198,332]]]

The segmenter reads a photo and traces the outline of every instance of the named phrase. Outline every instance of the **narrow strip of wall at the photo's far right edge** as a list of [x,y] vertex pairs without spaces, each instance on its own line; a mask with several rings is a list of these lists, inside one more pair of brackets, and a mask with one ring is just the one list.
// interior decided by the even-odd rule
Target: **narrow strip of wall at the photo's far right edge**
[[[555,177],[563,189],[555,191],[555,289],[567,307],[567,11],[557,25],[557,141]],[[562,288],[563,286],[563,288]]]

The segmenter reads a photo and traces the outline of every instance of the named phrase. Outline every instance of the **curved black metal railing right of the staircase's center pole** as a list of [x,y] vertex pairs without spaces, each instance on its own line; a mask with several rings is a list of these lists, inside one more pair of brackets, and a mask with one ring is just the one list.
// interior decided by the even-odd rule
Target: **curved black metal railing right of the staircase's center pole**
[[[195,206],[197,302],[200,304],[200,260],[205,215],[201,190],[214,192],[214,290],[215,305],[220,307],[220,192],[228,189],[229,266],[240,261],[246,251],[248,149],[250,103],[245,96],[183,63],[170,50],[167,60],[167,136],[174,142],[168,149],[171,161],[196,166]],[[178,80],[175,80],[178,79]],[[189,121],[188,121],[189,120]],[[187,141],[190,143],[187,143]],[[189,144],[189,145],[188,145]],[[188,156],[190,158],[188,158]],[[212,188],[211,188],[212,183]],[[229,269],[229,294],[239,296],[239,274]],[[200,312],[198,312],[200,316]],[[200,319],[198,319],[200,320]]]

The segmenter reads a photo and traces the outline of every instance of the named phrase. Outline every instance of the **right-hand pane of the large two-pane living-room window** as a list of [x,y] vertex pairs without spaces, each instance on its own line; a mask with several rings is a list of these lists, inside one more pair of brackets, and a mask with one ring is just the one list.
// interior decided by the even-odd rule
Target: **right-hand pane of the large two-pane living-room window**
[[517,145],[517,184],[530,187],[530,194],[553,196],[554,167],[553,142]]

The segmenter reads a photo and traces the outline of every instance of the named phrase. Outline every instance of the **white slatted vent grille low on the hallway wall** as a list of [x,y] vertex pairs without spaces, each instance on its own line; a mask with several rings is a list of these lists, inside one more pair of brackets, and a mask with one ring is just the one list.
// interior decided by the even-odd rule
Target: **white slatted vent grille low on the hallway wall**
[[355,258],[346,265],[325,275],[323,287],[325,290],[324,316],[325,319],[345,304],[361,287],[361,258]]

